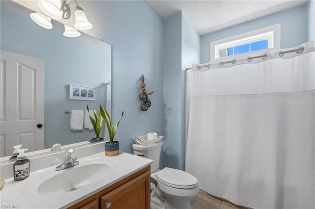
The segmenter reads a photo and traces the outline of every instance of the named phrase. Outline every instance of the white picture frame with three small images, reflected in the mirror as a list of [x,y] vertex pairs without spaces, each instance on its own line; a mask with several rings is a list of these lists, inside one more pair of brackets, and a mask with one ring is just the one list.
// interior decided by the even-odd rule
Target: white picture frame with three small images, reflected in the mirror
[[69,99],[96,101],[96,88],[69,84]]

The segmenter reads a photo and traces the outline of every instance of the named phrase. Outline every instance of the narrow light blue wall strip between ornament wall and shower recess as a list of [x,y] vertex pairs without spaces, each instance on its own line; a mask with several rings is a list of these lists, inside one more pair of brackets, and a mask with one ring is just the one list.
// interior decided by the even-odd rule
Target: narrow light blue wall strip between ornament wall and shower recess
[[182,141],[182,12],[163,20],[162,167],[184,169]]

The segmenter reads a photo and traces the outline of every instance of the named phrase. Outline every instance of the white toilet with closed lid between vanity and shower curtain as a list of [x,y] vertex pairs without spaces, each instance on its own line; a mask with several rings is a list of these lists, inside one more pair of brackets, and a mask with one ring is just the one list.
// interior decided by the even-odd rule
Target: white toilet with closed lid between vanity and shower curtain
[[133,144],[133,155],[153,160],[151,164],[151,209],[191,209],[189,199],[199,192],[198,180],[191,174],[165,167],[159,170],[163,142],[144,146]]

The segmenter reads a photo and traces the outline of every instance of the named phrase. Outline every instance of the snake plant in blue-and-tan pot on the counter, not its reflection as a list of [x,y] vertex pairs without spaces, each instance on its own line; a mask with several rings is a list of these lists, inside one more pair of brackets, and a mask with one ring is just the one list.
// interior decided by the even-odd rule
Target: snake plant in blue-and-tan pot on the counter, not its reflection
[[101,105],[99,105],[99,113],[101,117],[105,120],[109,133],[109,141],[105,143],[105,156],[116,156],[119,154],[119,141],[114,141],[114,136],[117,131],[119,122],[123,118],[124,111],[118,122],[113,126],[107,110]]

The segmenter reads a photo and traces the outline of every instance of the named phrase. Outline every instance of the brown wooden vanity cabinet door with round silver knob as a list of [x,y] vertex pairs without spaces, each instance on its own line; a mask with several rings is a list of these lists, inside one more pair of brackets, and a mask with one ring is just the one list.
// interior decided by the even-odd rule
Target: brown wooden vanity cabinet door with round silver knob
[[150,209],[150,172],[102,196],[101,209]]

